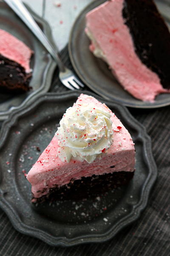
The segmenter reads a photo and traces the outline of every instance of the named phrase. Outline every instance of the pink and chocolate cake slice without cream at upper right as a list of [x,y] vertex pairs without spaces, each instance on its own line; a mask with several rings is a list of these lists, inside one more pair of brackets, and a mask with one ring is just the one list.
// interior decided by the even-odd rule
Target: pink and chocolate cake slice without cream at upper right
[[170,93],[170,32],[153,0],[106,1],[86,15],[85,32],[134,97],[153,102]]

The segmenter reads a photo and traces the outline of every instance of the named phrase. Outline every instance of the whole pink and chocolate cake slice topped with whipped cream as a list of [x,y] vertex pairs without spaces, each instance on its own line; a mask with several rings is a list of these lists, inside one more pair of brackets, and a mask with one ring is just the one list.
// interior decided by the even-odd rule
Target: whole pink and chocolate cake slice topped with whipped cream
[[81,94],[68,108],[55,136],[28,172],[33,201],[94,195],[127,183],[135,149],[127,129],[92,96]]

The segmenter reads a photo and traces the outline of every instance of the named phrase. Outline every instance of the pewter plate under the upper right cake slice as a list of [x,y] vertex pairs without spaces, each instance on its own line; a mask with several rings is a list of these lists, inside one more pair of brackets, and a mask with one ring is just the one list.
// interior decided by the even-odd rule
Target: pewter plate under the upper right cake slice
[[[135,99],[114,78],[108,65],[96,58],[89,50],[90,41],[85,35],[85,15],[95,7],[104,3],[105,0],[95,0],[90,3],[77,17],[69,39],[69,55],[71,63],[82,81],[91,90],[105,99],[118,102],[133,108],[160,108],[170,105],[170,94],[159,94],[154,103],[142,102]],[[170,26],[170,3],[156,0],[160,12]]]

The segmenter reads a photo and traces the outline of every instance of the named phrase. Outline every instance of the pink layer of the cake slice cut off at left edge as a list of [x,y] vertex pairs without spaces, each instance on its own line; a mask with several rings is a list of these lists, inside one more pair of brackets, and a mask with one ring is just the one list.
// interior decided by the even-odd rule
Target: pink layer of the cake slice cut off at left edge
[[30,73],[30,58],[33,51],[19,39],[0,29],[0,54],[4,57],[19,63],[25,68],[26,73]]

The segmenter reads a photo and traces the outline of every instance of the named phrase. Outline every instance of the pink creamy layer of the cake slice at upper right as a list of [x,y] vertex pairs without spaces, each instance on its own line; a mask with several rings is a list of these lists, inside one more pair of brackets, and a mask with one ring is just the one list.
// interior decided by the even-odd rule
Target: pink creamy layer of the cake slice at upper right
[[101,49],[113,75],[135,98],[153,102],[159,93],[170,93],[159,76],[148,69],[135,53],[133,39],[122,17],[124,0],[111,0],[86,15],[86,32],[94,42],[90,49]]

